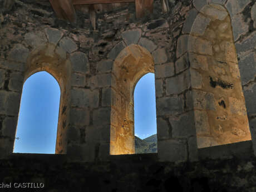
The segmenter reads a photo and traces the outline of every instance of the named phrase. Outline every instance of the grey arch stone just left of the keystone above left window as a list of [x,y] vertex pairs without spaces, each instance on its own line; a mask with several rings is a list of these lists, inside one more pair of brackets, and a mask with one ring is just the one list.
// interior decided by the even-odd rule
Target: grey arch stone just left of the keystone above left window
[[43,45],[47,42],[45,33],[42,31],[29,32],[24,36],[24,40],[27,43],[27,45],[36,48],[40,45]]

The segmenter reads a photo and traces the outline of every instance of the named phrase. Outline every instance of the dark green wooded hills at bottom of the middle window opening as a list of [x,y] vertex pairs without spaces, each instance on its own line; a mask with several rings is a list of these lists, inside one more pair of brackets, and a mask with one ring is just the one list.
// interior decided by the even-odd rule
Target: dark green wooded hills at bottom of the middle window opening
[[135,153],[157,152],[157,135],[151,135],[145,139],[135,136]]

